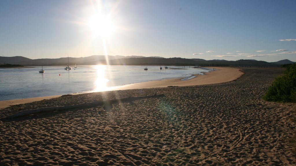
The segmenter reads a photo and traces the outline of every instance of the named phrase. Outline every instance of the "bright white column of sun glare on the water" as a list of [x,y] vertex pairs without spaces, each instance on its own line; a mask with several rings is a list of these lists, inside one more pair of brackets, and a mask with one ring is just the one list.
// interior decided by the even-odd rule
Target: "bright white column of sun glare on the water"
[[106,65],[96,66],[97,77],[95,82],[96,88],[94,89],[94,92],[102,92],[109,89],[107,87],[107,82],[109,82],[109,80],[105,78],[105,73],[106,73],[105,70],[106,70]]

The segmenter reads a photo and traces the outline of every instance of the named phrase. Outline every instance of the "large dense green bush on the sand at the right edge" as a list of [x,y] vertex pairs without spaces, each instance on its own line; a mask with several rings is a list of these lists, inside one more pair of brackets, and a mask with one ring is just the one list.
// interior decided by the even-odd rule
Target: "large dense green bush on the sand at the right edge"
[[272,82],[263,99],[277,102],[296,102],[296,64],[289,65],[284,75],[277,77]]

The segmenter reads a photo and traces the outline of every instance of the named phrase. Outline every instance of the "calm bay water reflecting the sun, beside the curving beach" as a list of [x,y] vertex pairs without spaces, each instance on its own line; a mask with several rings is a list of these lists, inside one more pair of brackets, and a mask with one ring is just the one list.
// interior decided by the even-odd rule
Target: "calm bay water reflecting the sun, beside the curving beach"
[[191,77],[207,69],[168,66],[65,66],[0,69],[0,100],[65,95],[87,91],[104,91],[108,87],[151,80]]

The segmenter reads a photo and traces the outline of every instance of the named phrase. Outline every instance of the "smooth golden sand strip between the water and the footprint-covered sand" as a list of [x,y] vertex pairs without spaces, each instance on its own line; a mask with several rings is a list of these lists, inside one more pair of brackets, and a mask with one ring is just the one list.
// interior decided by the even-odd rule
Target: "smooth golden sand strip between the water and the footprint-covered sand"
[[[168,87],[168,86],[195,86],[195,85],[206,85],[206,84],[218,84],[222,82],[233,81],[242,76],[243,72],[238,68],[233,67],[215,67],[214,70],[210,72],[204,72],[203,75],[194,74],[196,76],[192,79],[182,81],[183,78],[175,79],[163,79],[155,80],[148,82],[140,82],[135,84],[122,85],[118,87],[111,87],[106,91],[114,90],[126,90],[126,89],[144,89],[144,88],[159,88],[159,87]],[[94,93],[94,91],[82,92],[82,93],[73,93],[71,95],[85,94],[85,93]],[[48,100],[52,98],[61,97],[62,95],[54,96],[43,96],[43,97],[33,97],[33,98],[24,98],[24,99],[13,99],[13,100],[3,100],[0,101],[0,110],[7,108],[11,105],[25,104],[29,102],[35,102],[40,100]]]

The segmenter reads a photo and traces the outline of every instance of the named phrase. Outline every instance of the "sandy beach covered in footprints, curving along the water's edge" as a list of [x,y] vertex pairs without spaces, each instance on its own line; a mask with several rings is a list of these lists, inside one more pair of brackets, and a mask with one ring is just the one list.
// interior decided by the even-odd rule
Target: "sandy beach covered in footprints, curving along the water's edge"
[[[262,100],[284,69],[230,69],[236,71],[187,80],[196,84],[162,80],[168,82],[12,103],[0,110],[0,165],[295,165],[288,141],[296,133],[295,104]],[[164,96],[5,119],[155,93]]]

